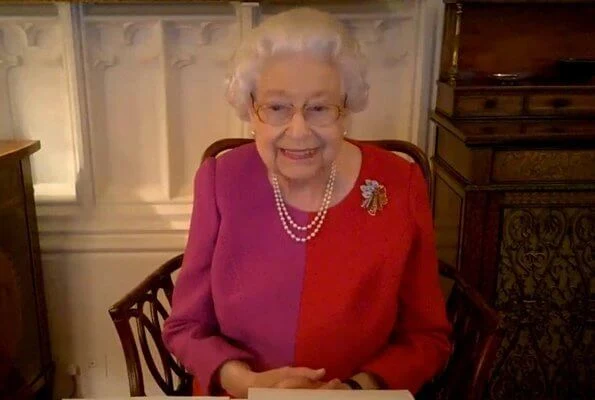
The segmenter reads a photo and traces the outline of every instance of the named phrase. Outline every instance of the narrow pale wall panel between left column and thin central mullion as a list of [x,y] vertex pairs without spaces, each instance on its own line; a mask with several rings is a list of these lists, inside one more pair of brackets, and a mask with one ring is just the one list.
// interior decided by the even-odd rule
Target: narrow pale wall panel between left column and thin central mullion
[[156,20],[85,25],[95,193],[99,201],[165,198],[161,32]]

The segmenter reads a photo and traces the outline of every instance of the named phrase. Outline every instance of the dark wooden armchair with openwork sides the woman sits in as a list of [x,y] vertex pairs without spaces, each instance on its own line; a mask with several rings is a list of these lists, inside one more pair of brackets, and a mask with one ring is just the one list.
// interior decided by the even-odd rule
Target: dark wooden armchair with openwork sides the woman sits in
[[[227,150],[250,142],[252,139],[216,141],[205,150],[202,160],[216,157]],[[431,193],[430,163],[424,152],[417,146],[399,140],[364,141],[364,143],[409,156],[419,164],[428,182],[428,192]],[[180,268],[182,257],[183,255],[178,255],[163,264],[109,310],[126,357],[132,396],[145,395],[139,348],[153,379],[166,395],[188,395],[191,392],[191,376],[168,353],[161,340],[161,323],[168,314],[158,298],[158,293],[162,291],[171,306],[173,292],[171,275]],[[479,400],[485,390],[495,353],[501,341],[498,315],[475,289],[464,282],[454,268],[442,262],[439,267],[441,276],[452,281],[447,309],[453,324],[451,339],[454,343],[454,351],[444,371],[429,382],[416,398]],[[145,311],[146,305],[149,306],[149,315]],[[131,328],[133,320],[137,337]],[[149,349],[147,333],[157,348],[161,371],[157,367],[154,352]],[[179,381],[177,385],[174,382],[174,375]]]

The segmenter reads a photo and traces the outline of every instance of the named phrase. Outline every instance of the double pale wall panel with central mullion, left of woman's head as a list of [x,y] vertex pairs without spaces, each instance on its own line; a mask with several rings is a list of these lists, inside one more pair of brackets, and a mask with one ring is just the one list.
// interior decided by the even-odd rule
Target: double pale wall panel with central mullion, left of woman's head
[[91,130],[102,132],[91,141],[98,199],[188,197],[202,151],[238,136],[222,85],[235,17],[102,16],[85,27]]

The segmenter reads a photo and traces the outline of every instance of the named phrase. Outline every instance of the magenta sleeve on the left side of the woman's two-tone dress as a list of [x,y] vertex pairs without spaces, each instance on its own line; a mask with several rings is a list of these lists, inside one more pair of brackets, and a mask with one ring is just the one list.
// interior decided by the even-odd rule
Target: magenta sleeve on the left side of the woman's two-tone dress
[[214,158],[199,168],[184,261],[176,280],[170,317],[163,327],[168,350],[213,393],[219,367],[228,360],[250,360],[219,332],[211,290],[211,261],[219,229]]

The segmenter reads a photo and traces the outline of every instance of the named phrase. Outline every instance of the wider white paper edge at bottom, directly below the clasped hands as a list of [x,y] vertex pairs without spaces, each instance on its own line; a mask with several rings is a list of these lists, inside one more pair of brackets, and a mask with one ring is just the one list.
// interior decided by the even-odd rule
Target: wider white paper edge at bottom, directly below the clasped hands
[[407,390],[250,389],[248,400],[414,400]]

